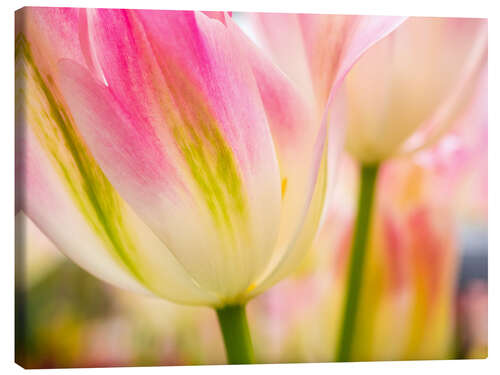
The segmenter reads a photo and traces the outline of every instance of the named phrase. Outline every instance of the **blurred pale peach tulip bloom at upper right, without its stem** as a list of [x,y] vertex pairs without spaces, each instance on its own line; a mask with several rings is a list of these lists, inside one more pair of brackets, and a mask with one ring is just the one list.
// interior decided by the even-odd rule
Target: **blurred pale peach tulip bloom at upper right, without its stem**
[[438,139],[473,92],[487,48],[480,26],[415,17],[370,48],[345,80],[348,151],[374,163]]

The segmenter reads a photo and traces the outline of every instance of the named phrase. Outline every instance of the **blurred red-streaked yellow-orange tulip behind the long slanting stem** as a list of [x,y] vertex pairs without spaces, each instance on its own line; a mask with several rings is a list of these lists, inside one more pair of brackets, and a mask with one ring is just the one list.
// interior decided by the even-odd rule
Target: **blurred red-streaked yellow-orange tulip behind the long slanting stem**
[[[415,160],[393,161],[381,169],[350,360],[453,355],[459,249],[452,206],[439,192],[442,182]],[[344,306],[338,302],[347,292],[354,217],[346,213],[339,218],[333,212],[329,216],[333,220],[328,225],[336,225],[343,234],[331,239],[325,227],[318,242],[326,241],[334,254],[334,298],[328,300],[337,302],[329,314],[334,344],[339,345]]]

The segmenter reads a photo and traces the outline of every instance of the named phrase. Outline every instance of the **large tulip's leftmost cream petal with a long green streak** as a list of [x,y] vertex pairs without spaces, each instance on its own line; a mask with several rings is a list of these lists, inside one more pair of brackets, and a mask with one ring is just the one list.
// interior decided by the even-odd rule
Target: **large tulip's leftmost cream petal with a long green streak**
[[105,281],[183,303],[213,303],[215,296],[198,288],[118,196],[75,129],[51,74],[40,69],[20,32],[18,206],[65,254]]

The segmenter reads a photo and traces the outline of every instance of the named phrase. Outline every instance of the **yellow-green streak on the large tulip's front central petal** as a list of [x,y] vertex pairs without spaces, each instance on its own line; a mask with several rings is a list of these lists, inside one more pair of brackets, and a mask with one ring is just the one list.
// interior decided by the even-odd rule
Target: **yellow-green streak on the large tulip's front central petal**
[[[160,61],[154,54],[149,58]],[[152,62],[151,66],[155,64]],[[207,98],[183,67],[168,59],[161,60],[158,67],[161,73],[148,82],[151,94],[158,100],[164,122],[169,124],[196,190],[217,229],[233,245],[237,231],[249,241],[248,207],[241,174]]]

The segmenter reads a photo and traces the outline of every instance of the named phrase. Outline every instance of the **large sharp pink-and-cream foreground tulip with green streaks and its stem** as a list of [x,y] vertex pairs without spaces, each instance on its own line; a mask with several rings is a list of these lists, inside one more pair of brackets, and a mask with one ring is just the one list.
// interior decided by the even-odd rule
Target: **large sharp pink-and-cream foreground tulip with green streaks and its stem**
[[215,308],[252,362],[244,306],[314,239],[328,124],[226,14],[25,8],[16,34],[18,207],[102,280]]

